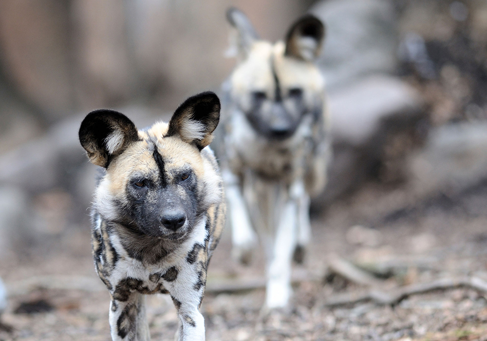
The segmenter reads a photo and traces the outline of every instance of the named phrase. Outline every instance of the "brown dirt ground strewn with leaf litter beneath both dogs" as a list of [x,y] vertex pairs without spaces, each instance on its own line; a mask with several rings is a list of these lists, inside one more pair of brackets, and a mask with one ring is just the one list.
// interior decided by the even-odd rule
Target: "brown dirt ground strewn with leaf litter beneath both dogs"
[[[487,340],[482,286],[430,288],[385,304],[367,297],[355,302],[371,289],[384,296],[439,279],[485,283],[487,183],[454,197],[419,200],[404,185],[370,183],[312,223],[313,243],[305,264],[294,267],[295,294],[283,311],[262,309],[262,254],[257,252],[249,267],[234,263],[225,232],[209,267],[202,306],[207,340]],[[361,227],[351,228],[356,225]],[[31,256],[1,265],[12,297],[1,318],[0,340],[110,340],[109,295],[94,273],[88,232],[88,226],[73,227]],[[375,277],[359,284],[336,270],[337,259]],[[32,277],[50,283],[26,286]],[[218,288],[222,283],[257,288]],[[177,318],[170,299],[151,296],[148,306],[152,339],[173,340]]]

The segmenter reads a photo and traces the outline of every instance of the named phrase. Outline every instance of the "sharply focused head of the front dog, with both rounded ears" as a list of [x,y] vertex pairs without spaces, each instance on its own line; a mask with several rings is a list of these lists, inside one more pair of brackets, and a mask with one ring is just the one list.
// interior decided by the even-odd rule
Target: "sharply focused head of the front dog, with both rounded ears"
[[94,209],[133,233],[180,239],[221,200],[219,175],[205,147],[220,118],[214,93],[188,98],[168,123],[137,131],[111,110],[88,114],[79,140],[92,163],[105,169]]

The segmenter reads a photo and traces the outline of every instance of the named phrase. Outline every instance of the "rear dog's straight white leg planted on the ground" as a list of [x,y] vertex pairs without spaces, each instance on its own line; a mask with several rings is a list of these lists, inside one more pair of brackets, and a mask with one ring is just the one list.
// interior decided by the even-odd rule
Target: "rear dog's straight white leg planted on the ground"
[[268,263],[265,298],[268,308],[285,307],[291,296],[291,260],[296,247],[296,218],[296,202],[287,200],[283,205]]

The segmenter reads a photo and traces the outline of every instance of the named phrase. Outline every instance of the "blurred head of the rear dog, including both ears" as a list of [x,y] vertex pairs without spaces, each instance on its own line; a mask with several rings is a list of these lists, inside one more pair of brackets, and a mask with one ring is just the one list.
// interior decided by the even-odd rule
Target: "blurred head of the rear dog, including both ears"
[[284,41],[272,44],[238,9],[229,9],[227,19],[240,61],[230,77],[232,101],[256,132],[271,139],[292,136],[304,114],[322,109],[324,80],[314,63],[325,35],[322,22],[305,15]]

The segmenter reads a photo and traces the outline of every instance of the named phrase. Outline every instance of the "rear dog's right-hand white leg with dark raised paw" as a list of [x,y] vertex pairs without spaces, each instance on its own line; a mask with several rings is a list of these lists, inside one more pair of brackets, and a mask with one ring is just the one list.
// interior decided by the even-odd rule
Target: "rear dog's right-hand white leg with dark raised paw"
[[308,193],[306,193],[302,181],[297,181],[291,186],[290,194],[291,198],[295,198],[298,205],[298,237],[293,259],[296,263],[302,264],[306,247],[311,240],[311,223],[309,220],[309,206],[311,200]]

